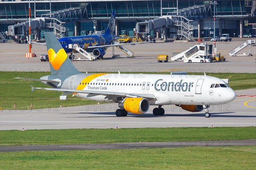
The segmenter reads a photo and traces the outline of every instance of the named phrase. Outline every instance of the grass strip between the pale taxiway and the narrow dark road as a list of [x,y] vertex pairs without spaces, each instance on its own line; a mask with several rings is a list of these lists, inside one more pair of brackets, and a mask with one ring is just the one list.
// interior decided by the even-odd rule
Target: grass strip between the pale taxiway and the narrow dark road
[[256,139],[256,127],[1,130],[0,145]]

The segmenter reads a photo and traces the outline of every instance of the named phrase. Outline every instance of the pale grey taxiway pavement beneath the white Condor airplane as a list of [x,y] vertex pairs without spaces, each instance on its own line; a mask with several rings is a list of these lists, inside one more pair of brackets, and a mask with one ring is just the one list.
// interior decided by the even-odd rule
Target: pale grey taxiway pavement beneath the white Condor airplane
[[[256,89],[236,91],[233,102],[212,105],[210,118],[204,111],[192,113],[175,105],[165,105],[164,116],[147,113],[116,117],[117,104],[56,107],[0,112],[0,130],[70,129],[70,128],[141,128],[141,127],[244,127],[256,126]],[[61,101],[60,101],[61,102]]]

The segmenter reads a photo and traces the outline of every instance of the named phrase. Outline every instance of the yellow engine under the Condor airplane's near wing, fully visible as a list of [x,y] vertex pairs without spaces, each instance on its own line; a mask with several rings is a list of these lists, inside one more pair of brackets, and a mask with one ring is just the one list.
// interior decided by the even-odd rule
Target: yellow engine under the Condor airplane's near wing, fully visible
[[135,114],[143,114],[149,109],[148,99],[145,98],[126,98],[125,101],[119,103],[119,108],[125,109],[125,111],[135,113]]

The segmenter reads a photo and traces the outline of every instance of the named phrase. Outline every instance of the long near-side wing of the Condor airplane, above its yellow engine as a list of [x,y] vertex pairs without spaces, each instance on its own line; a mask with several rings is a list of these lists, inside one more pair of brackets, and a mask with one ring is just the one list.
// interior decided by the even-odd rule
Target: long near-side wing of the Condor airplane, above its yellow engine
[[155,99],[156,97],[153,94],[129,94],[129,93],[120,93],[120,92],[110,92],[110,91],[85,91],[85,90],[71,90],[71,89],[61,89],[61,88],[35,88],[31,86],[31,91],[33,92],[35,89],[43,89],[49,91],[62,91],[62,92],[70,92],[70,93],[83,93],[83,94],[99,94],[99,95],[113,95],[113,96],[127,96],[127,97],[143,97],[148,100]]

